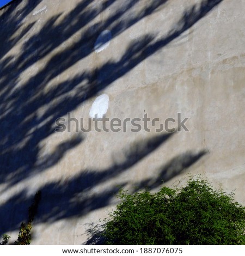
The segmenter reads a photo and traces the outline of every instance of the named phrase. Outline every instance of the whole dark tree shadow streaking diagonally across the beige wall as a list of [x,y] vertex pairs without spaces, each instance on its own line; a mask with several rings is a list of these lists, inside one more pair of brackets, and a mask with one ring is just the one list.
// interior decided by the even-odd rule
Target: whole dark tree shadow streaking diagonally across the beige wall
[[[122,6],[119,5],[120,8],[113,11],[107,20],[97,22],[96,17],[117,1],[105,1],[103,4],[93,5],[94,1],[84,0],[69,13],[52,16],[37,33],[31,31],[37,25],[37,21],[25,25],[24,19],[41,1],[28,1],[28,8],[21,8],[16,15],[20,2],[15,1],[1,14],[0,33],[5,41],[0,42],[0,184],[5,185],[5,191],[30,176],[52,167],[64,157],[65,153],[84,141],[84,138],[80,137],[69,139],[58,145],[59,150],[55,155],[46,154],[40,158],[41,142],[54,133],[54,123],[57,118],[71,112],[127,74],[144,59],[168,45],[222,0],[201,1],[200,5],[186,10],[174,29],[163,38],[155,39],[152,34],[143,35],[138,40],[132,40],[119,60],[109,60],[95,69],[83,69],[62,82],[59,81],[59,76],[64,71],[94,51],[94,42],[101,31],[109,29],[115,37],[145,16],[164,7],[168,1],[149,1],[147,6],[140,10],[139,15],[131,13],[134,5],[139,1],[120,2]],[[86,8],[88,5],[90,8]],[[64,42],[80,29],[82,32],[74,44],[64,47],[61,51],[60,47]],[[20,42],[22,48],[20,54],[16,56],[10,50]],[[56,51],[57,49],[59,51]],[[50,58],[46,59],[46,57]],[[35,68],[37,63],[42,64],[41,68],[39,67],[32,75],[32,68]],[[117,192],[117,188],[110,188],[103,193],[103,196],[91,195],[84,199],[87,190],[93,192],[93,189],[102,182],[103,176],[107,177],[107,180],[112,179],[130,168],[134,162],[148,155],[150,153],[147,149],[148,145],[145,147],[144,154],[134,154],[130,159],[126,159],[125,163],[109,169],[81,170],[81,174],[67,181],[60,180],[50,182],[44,187],[37,187],[36,190],[44,191],[41,203],[42,215],[38,217],[38,221],[55,221],[81,215],[107,205],[112,194]],[[154,148],[157,148],[157,145]],[[125,184],[119,182],[118,185]],[[82,195],[79,194],[81,192]],[[77,196],[80,199],[76,198]],[[79,205],[75,201],[74,205],[70,205],[74,198],[78,200]],[[25,206],[29,205],[30,200],[32,198],[28,196],[26,189],[1,205],[1,232],[17,228],[26,216]]]

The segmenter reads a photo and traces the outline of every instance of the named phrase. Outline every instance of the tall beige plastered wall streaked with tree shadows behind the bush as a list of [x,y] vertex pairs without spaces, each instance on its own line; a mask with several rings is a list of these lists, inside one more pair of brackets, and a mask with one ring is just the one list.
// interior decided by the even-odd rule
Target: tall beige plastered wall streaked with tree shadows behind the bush
[[[245,204],[244,10],[243,0],[16,0],[2,9],[0,233],[16,239],[38,190],[34,245],[81,245],[120,187],[155,191],[189,173]],[[149,122],[133,132],[128,122],[82,132],[70,120],[70,132],[54,132],[58,118],[87,127],[105,113],[147,113],[157,124],[181,113],[189,131]]]

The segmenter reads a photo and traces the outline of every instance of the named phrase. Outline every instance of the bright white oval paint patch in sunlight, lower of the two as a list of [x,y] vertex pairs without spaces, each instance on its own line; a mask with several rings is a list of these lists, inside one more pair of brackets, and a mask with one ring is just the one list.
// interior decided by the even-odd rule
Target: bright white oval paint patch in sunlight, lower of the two
[[91,106],[89,116],[95,118],[95,115],[97,114],[97,118],[103,118],[103,115],[107,112],[108,104],[109,96],[107,94],[100,95]]

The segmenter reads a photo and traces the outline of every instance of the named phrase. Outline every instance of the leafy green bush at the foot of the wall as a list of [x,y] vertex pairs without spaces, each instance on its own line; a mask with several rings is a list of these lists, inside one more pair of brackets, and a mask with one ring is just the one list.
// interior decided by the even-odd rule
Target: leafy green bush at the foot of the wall
[[245,245],[245,208],[202,179],[186,187],[119,193],[103,225],[107,245]]

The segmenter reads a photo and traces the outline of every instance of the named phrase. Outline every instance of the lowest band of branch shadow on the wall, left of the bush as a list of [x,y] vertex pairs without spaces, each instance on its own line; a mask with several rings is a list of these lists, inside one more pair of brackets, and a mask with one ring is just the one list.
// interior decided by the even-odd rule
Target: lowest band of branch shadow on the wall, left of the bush
[[[134,143],[131,151],[125,150],[125,160],[115,163],[103,170],[81,170],[79,174],[66,180],[49,182],[39,188],[42,192],[42,200],[39,205],[39,212],[35,223],[51,223],[64,218],[78,217],[88,214],[88,212],[100,209],[110,204],[121,187],[127,182],[119,181],[113,187],[107,187],[106,182],[127,171],[137,162],[144,159],[146,155],[151,154],[160,145],[166,142],[173,133],[161,134],[149,138],[146,141]],[[74,143],[78,143],[75,141]],[[68,146],[64,144],[63,151]],[[100,190],[96,190],[102,185]],[[24,222],[24,212],[26,205],[32,201],[32,195],[28,196],[27,190],[14,195],[8,200],[7,204],[0,206],[0,217],[5,222],[2,223],[1,231],[15,230],[21,222]],[[16,215],[16,210],[18,213]],[[8,216],[4,216],[9,212]],[[11,214],[13,213],[13,214]],[[13,217],[14,215],[14,217]]]

